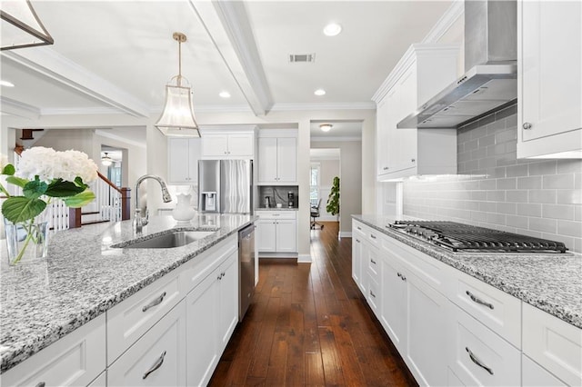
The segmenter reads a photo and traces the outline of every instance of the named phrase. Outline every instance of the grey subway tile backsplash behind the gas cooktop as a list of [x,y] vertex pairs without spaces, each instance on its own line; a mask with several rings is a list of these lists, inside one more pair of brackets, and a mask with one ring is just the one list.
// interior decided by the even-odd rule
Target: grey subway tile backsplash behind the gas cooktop
[[457,132],[457,175],[404,182],[404,213],[566,243],[582,253],[582,160],[517,160],[517,105]]

